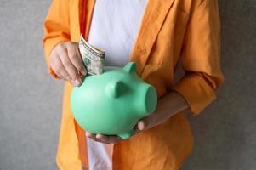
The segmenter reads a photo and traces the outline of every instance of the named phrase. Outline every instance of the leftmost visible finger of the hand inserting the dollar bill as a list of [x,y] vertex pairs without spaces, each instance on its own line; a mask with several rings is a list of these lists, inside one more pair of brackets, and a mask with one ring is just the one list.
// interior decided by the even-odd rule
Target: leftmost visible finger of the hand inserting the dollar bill
[[56,75],[64,80],[71,81],[71,77],[65,70],[64,65],[62,64],[60,60],[60,56],[56,54],[56,56],[51,57],[51,67],[56,73]]

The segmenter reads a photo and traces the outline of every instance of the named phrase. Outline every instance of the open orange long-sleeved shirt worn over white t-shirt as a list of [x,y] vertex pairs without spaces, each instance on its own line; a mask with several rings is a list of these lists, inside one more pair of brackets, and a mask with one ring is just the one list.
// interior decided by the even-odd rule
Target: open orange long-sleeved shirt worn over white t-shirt
[[[63,41],[87,39],[94,0],[54,0],[44,21],[43,47],[49,73],[52,48]],[[175,90],[199,114],[224,81],[220,70],[220,26],[217,0],[149,0],[130,60],[137,73],[156,88],[158,97]],[[185,76],[174,84],[180,60]],[[65,82],[57,164],[60,169],[88,167],[84,131],[70,108],[71,84]],[[182,113],[161,125],[114,145],[113,169],[175,170],[191,153],[193,138]]]

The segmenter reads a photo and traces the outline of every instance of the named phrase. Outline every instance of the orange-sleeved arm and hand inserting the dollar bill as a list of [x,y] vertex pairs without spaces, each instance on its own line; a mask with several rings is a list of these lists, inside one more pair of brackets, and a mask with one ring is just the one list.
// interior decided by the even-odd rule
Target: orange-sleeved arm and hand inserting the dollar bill
[[71,42],[69,0],[54,0],[44,20],[43,48],[48,72],[58,79],[82,83],[87,71],[83,65],[77,42]]

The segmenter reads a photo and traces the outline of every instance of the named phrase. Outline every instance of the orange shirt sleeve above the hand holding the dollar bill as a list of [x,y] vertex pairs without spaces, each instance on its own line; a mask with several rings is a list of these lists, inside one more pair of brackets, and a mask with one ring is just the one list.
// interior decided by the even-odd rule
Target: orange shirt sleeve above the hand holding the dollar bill
[[70,41],[69,0],[53,0],[48,14],[43,22],[43,49],[48,66],[48,72],[54,78],[58,77],[49,65],[49,56],[54,46],[59,42]]

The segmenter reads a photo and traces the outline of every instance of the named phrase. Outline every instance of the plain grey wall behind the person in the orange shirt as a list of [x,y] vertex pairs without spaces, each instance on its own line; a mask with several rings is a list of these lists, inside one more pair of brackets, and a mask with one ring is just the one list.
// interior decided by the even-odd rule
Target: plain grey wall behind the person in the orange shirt
[[[50,1],[0,1],[0,169],[57,169],[63,82],[48,76],[41,38]],[[256,2],[219,2],[219,99],[189,116],[196,145],[183,170],[256,167]],[[179,73],[180,74],[180,73]]]

